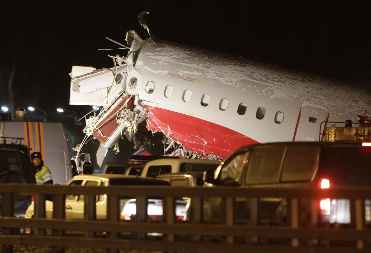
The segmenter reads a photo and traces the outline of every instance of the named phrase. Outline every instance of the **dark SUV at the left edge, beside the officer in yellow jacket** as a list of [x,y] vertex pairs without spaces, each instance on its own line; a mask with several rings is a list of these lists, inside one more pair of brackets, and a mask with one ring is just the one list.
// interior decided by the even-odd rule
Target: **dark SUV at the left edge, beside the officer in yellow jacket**
[[[36,184],[26,146],[0,144],[0,183]],[[14,216],[24,217],[30,203],[30,196],[14,195]]]

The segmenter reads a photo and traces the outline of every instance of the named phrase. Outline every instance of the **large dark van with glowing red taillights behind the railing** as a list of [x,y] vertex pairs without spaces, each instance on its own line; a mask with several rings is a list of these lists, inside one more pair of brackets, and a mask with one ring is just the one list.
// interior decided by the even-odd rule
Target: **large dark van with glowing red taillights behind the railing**
[[[213,175],[204,174],[204,179],[214,185],[241,187],[371,186],[370,160],[371,147],[359,142],[256,144],[238,149]],[[370,223],[370,200],[365,201],[365,208],[366,222]],[[282,222],[286,200],[262,198],[259,212],[261,223]],[[243,216],[244,212],[238,213]],[[349,200],[319,200],[318,216],[321,223],[350,223]]]

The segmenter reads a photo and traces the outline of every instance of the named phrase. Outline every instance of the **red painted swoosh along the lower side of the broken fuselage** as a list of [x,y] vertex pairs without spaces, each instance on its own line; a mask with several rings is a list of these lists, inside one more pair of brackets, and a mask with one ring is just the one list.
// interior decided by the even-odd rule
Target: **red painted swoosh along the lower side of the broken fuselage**
[[175,111],[146,106],[147,129],[156,129],[195,153],[214,154],[223,159],[243,145],[257,141],[227,127]]

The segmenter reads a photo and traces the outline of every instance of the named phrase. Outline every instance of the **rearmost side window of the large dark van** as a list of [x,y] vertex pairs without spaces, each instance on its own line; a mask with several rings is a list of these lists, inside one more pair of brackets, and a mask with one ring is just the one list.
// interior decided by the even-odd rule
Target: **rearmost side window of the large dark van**
[[317,167],[318,147],[289,146],[283,162],[281,182],[310,181]]

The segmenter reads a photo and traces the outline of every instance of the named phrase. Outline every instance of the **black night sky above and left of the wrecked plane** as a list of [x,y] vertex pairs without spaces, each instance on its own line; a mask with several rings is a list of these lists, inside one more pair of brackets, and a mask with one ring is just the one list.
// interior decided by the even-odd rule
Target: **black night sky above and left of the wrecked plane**
[[[91,107],[69,106],[68,73],[73,65],[109,67],[107,54],[127,54],[98,51],[119,47],[105,36],[125,44],[134,29],[147,38],[141,11],[150,12],[145,19],[160,39],[370,85],[368,0],[14,1],[0,11],[0,106],[10,98],[12,111],[46,110],[47,120],[62,121],[79,143],[83,126],[74,121]],[[29,112],[29,119],[42,116]]]

